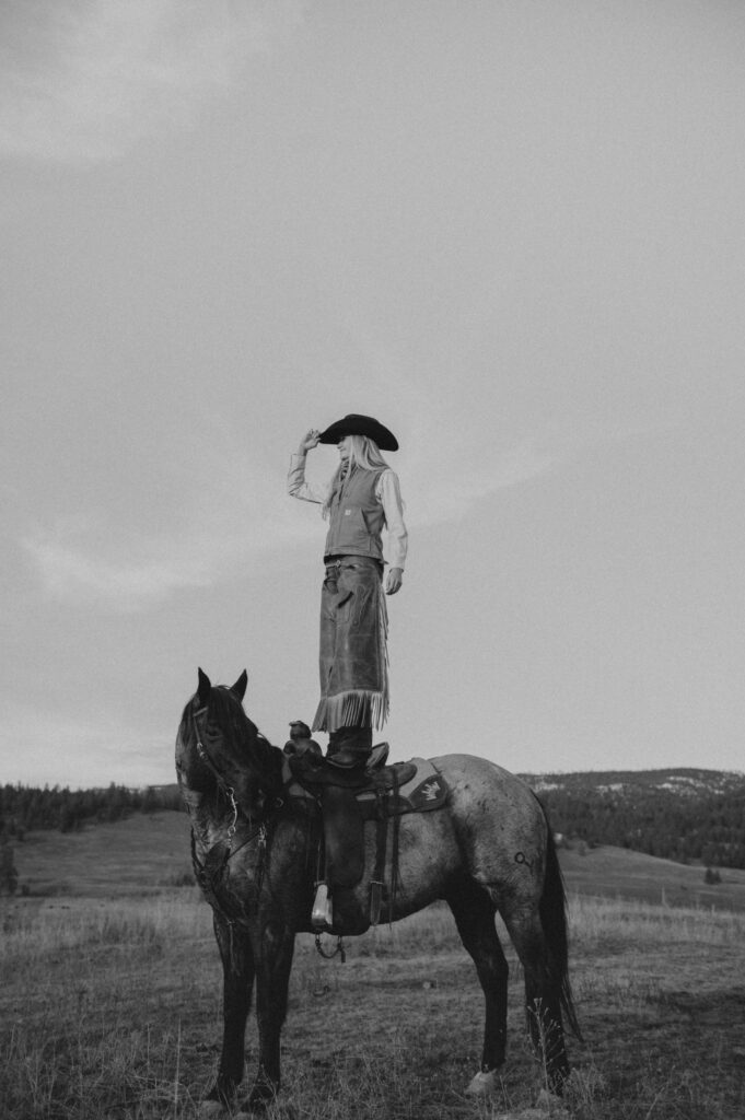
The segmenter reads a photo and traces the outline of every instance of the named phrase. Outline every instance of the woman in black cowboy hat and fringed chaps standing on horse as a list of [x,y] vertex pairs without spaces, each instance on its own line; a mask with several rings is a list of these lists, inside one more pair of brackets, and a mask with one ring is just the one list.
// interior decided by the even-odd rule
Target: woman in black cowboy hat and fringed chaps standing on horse
[[[326,486],[306,482],[309,450],[336,444],[339,465]],[[314,731],[328,731],[328,760],[364,765],[372,729],[388,716],[388,612],[383,596],[383,528],[388,531],[387,595],[401,588],[408,534],[399,480],[381,455],[398,440],[372,417],[350,414],[311,429],[291,457],[292,497],[317,502],[328,521],[320,599],[320,702]]]

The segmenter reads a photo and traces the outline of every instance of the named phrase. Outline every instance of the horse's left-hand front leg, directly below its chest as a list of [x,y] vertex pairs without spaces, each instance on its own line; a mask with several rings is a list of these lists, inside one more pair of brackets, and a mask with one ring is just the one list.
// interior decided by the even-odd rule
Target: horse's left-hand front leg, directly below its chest
[[223,963],[223,1048],[217,1079],[207,1100],[231,1103],[243,1080],[245,1024],[251,1009],[253,951],[248,933],[213,915],[215,939]]

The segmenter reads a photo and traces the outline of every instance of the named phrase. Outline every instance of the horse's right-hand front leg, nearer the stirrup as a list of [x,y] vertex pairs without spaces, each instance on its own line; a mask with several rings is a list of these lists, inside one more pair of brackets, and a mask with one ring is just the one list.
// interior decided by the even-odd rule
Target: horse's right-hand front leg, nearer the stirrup
[[269,918],[259,928],[253,948],[257,961],[259,1070],[249,1105],[260,1108],[271,1101],[279,1089],[279,1036],[287,1015],[295,934],[282,922]]

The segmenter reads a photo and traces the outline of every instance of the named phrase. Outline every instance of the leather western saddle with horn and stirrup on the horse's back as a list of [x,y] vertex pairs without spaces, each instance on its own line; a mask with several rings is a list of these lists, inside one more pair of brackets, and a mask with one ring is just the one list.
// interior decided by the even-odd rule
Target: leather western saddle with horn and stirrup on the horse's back
[[[324,881],[335,887],[356,886],[365,870],[364,824],[374,820],[375,867],[371,921],[376,923],[382,900],[388,849],[389,821],[392,821],[393,883],[398,865],[398,829],[403,813],[440,809],[447,797],[447,784],[425,758],[385,765],[389,746],[373,748],[364,769],[341,769],[310,753],[287,759],[290,774],[300,786],[298,793],[313,796],[320,805],[324,828]],[[292,788],[290,787],[290,795]]]

